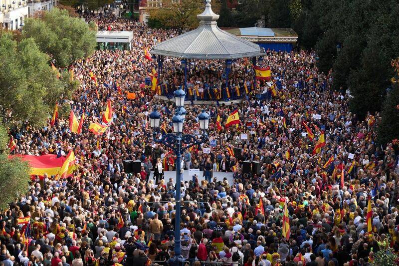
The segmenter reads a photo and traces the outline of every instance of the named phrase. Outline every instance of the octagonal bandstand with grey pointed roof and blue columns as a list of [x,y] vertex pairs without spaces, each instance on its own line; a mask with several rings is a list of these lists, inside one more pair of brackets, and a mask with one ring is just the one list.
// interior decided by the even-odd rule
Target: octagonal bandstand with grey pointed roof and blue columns
[[[224,30],[221,30],[216,23],[216,20],[219,18],[218,14],[215,14],[210,5],[210,0],[206,0],[205,9],[202,13],[197,15],[200,20],[200,25],[198,28],[186,32],[177,37],[165,40],[154,45],[150,53],[153,56],[153,61],[158,62],[158,75],[162,75],[163,68],[163,60],[165,56],[171,56],[175,58],[180,58],[181,67],[184,70],[184,90],[186,92],[186,100],[193,101],[195,91],[188,91],[187,86],[187,71],[188,71],[188,60],[192,59],[216,59],[216,60],[225,60],[225,70],[224,70],[224,78],[225,78],[225,88],[232,91],[233,88],[229,88],[228,86],[228,77],[231,71],[231,65],[234,60],[239,58],[252,57],[252,64],[256,65],[256,58],[258,56],[260,60],[263,58],[261,56],[265,55],[264,49],[261,48],[258,44],[244,40],[242,38],[236,37],[233,34],[230,34]],[[255,79],[255,75],[253,76]],[[254,84],[255,80],[254,80]],[[166,84],[161,84],[161,95],[167,96],[168,98],[173,95],[173,92],[170,89],[165,88]],[[250,90],[250,86],[247,86],[248,90]],[[204,99],[201,101],[217,101],[217,100],[234,100],[241,99],[244,97],[244,93],[237,96],[228,97],[226,89],[216,88],[219,93],[219,97],[215,97],[209,99],[207,97],[208,93],[204,94]],[[239,88],[241,91],[244,91],[243,88]],[[213,88],[214,90],[214,88]],[[208,94],[210,95],[210,93]],[[189,99],[190,97],[190,99]],[[218,98],[218,99],[217,99]]]

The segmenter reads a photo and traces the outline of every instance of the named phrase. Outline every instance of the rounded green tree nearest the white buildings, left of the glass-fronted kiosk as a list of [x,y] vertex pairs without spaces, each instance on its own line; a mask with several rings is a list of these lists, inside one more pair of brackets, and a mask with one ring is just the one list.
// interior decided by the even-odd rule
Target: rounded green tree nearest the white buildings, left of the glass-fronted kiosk
[[87,23],[57,8],[40,18],[26,18],[22,33],[25,38],[34,38],[40,50],[63,67],[91,55],[96,46],[95,32]]

